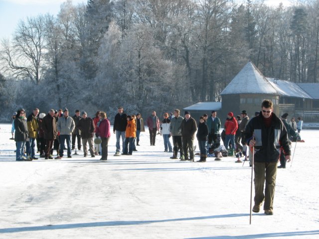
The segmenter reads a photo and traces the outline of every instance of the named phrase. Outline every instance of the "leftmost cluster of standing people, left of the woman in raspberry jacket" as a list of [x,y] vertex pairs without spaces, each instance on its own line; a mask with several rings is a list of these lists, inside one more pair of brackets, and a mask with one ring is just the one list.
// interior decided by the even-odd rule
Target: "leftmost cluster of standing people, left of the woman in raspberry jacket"
[[[65,109],[54,111],[51,109],[47,115],[39,114],[39,109],[35,108],[26,118],[23,109],[18,110],[12,122],[12,136],[16,142],[16,160],[32,161],[35,157],[35,142],[38,139],[38,151],[40,157],[53,159],[53,150],[57,151],[55,159],[61,159],[64,149],[67,149],[67,157],[71,158],[71,137],[72,149],[75,148],[75,139],[78,140],[78,148],[81,149],[81,138],[83,143],[84,156],[88,154],[87,142],[90,146],[90,153],[95,157],[93,151],[93,133],[95,125],[91,118],[82,112],[82,117],[77,110],[74,117],[69,117],[69,111]],[[82,135],[81,135],[82,130]],[[81,137],[82,136],[82,137]],[[92,140],[91,140],[92,139]],[[65,142],[67,148],[65,148]]]

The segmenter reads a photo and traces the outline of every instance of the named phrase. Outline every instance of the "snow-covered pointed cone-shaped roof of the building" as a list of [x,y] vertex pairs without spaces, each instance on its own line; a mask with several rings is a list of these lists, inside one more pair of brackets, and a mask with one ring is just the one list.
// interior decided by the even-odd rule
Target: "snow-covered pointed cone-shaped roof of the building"
[[228,94],[270,94],[277,95],[276,89],[268,82],[257,67],[248,62],[234,77],[220,95]]

